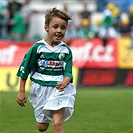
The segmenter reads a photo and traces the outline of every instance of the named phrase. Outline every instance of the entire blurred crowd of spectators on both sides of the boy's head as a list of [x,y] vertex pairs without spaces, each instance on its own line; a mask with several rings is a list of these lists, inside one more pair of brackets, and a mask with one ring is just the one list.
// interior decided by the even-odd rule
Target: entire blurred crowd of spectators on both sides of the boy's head
[[[93,12],[87,8],[87,3],[83,3],[81,12],[71,12],[68,5],[64,5],[64,10],[71,14],[73,21],[68,24],[65,41],[69,43],[73,38],[95,38],[103,39],[104,45],[108,38],[119,38],[129,36],[133,38],[133,5],[130,5],[126,15],[114,5],[108,3],[106,9],[101,12],[101,18],[92,21]],[[6,12],[5,10],[6,9]],[[24,4],[12,0],[7,6],[0,7],[0,38],[7,37],[11,40],[32,40],[28,38],[30,17],[36,13],[30,9],[29,1]],[[3,30],[4,29],[4,30]],[[6,35],[6,36],[5,36]]]

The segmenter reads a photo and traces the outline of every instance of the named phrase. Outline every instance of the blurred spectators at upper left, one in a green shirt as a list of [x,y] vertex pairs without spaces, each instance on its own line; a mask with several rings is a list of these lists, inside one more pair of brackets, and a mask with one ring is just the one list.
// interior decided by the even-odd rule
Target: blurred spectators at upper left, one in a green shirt
[[28,40],[30,18],[35,13],[29,6],[29,0],[23,4],[17,0],[3,1],[0,5],[0,38]]

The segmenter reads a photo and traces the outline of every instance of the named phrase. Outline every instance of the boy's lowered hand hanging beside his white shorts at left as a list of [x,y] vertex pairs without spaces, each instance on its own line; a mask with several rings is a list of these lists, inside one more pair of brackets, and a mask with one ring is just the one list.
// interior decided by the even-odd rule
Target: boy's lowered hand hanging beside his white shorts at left
[[24,107],[27,102],[26,93],[19,91],[16,101],[20,106]]

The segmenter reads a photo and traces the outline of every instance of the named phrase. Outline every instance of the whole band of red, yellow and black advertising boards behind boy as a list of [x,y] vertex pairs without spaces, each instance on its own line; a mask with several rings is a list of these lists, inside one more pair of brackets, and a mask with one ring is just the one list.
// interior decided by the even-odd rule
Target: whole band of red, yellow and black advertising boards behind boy
[[[0,40],[0,91],[19,89],[19,78],[16,73],[24,55],[33,44],[34,42]],[[72,40],[70,48],[73,52],[74,84],[90,86],[123,83],[132,86],[131,40],[110,39],[106,46],[102,44],[102,40],[98,38]],[[31,81],[28,78],[26,90],[29,90],[30,86]]]

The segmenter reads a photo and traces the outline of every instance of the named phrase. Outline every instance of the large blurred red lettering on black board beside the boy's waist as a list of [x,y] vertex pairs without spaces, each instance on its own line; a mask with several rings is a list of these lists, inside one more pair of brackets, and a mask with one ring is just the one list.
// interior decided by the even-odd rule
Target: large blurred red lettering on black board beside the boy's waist
[[114,85],[116,80],[115,69],[83,69],[81,85],[100,86]]

